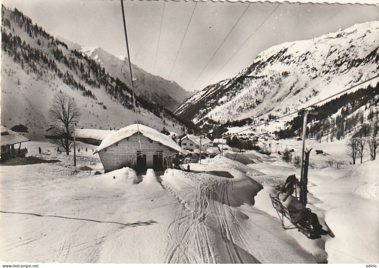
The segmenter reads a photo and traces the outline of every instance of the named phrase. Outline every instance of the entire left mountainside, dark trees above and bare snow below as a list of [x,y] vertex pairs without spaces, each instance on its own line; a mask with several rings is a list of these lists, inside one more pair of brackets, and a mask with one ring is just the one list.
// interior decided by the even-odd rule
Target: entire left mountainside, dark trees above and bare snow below
[[[135,123],[132,93],[107,74],[96,61],[69,50],[19,11],[2,8],[1,124],[24,124],[45,133],[54,94],[61,90],[77,102],[79,127],[119,129]],[[137,97],[139,122],[180,132],[175,116],[149,100]]]

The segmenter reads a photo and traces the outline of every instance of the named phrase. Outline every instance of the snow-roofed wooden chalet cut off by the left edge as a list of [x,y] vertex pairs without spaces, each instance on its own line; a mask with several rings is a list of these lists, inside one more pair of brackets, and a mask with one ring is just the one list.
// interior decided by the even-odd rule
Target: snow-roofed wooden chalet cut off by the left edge
[[[1,136],[0,136],[0,148],[1,155],[0,161],[4,162],[11,157],[17,157],[25,155],[25,150],[20,149],[21,143],[29,141],[28,138],[19,135],[17,132],[11,131],[6,127],[0,126]],[[14,145],[19,144],[19,148],[15,149]]]

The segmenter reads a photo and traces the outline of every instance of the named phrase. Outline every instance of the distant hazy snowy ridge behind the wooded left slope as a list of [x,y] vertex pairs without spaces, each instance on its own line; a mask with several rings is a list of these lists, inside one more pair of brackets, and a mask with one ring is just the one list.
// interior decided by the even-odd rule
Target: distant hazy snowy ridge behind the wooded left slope
[[[63,39],[63,38],[61,38]],[[115,56],[106,52],[101,47],[83,47],[79,44],[67,41],[69,49],[79,50],[81,53],[96,60],[114,77],[118,77],[130,88],[129,61],[126,56]],[[132,73],[134,88],[136,94],[144,96],[152,102],[160,103],[163,107],[175,110],[186,99],[191,97],[195,92],[185,91],[175,81],[168,81],[162,77],[152,75],[132,63]]]

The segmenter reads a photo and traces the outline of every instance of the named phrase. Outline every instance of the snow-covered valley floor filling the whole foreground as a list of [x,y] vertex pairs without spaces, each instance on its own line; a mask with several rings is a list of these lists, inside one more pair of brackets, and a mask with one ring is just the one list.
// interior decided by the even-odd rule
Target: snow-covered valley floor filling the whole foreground
[[[379,262],[378,161],[328,166],[349,162],[344,141],[307,142],[327,153],[311,153],[317,168],[309,169],[309,207],[335,234],[309,240],[283,230],[271,205],[274,185],[300,173],[277,154],[228,152],[190,164],[192,172],[103,174],[96,146],[77,144],[75,168],[72,155],[29,138],[27,156],[60,162],[0,166],[3,262]],[[300,148],[301,141],[280,143]]]

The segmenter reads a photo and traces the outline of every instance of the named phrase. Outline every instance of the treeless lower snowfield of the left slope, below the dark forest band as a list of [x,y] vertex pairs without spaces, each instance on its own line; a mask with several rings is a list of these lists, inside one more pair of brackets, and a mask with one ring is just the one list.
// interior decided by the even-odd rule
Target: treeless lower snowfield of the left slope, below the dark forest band
[[[48,74],[46,77],[49,77],[49,80],[46,81],[20,69],[9,56],[2,55],[2,125],[13,127],[20,123],[27,125],[30,132],[45,134],[45,130],[50,126],[47,117],[50,102],[59,90],[72,96],[82,112],[78,127],[119,129],[135,123],[133,110],[125,109],[121,104],[111,100],[101,89],[94,92],[96,101],[83,96],[80,91],[72,90],[61,80],[53,79],[53,74]],[[13,70],[17,71],[17,75]],[[102,102],[108,108],[103,109],[97,102]],[[161,119],[146,110],[139,116],[139,122],[159,130],[164,126]],[[170,126],[166,126],[168,127]]]

